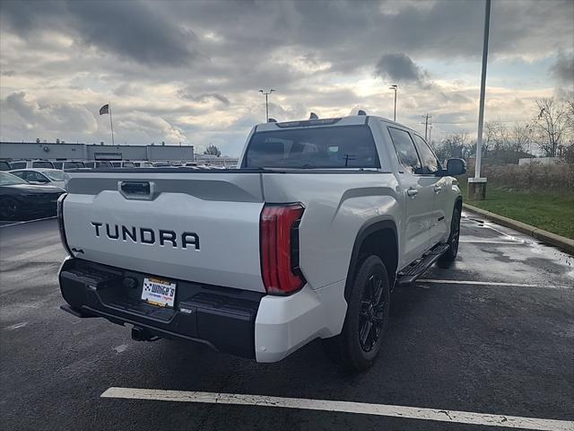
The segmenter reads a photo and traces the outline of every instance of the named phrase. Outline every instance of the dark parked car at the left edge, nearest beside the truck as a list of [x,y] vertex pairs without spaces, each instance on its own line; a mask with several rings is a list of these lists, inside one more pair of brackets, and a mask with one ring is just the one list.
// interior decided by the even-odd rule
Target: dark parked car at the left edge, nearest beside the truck
[[0,220],[20,220],[25,216],[56,214],[57,198],[64,189],[35,186],[22,178],[0,172]]

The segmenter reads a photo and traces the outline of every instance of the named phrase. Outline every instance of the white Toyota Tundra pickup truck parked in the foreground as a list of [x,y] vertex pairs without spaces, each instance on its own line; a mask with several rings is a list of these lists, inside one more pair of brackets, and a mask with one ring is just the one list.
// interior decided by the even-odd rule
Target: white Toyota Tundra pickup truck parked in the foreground
[[233,170],[70,172],[62,308],[262,363],[325,339],[364,370],[392,289],[456,258],[464,172],[367,115],[257,125]]

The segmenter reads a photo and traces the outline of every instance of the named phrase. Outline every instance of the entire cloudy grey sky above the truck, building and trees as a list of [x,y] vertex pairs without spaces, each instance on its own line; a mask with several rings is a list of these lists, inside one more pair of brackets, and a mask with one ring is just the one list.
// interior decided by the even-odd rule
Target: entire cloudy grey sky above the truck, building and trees
[[[265,121],[358,109],[432,138],[476,128],[481,0],[6,1],[0,3],[0,139],[213,143],[237,155]],[[528,119],[571,98],[574,1],[493,0],[485,117]]]

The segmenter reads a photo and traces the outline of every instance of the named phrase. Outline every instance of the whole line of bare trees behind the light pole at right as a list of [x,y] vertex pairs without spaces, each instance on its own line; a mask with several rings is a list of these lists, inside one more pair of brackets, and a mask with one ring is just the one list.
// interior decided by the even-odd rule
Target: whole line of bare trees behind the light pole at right
[[[440,160],[474,157],[476,141],[465,132],[445,136],[433,143]],[[561,157],[574,163],[574,101],[535,101],[532,120],[507,126],[487,121],[483,130],[483,157],[494,164],[517,163],[531,155]]]

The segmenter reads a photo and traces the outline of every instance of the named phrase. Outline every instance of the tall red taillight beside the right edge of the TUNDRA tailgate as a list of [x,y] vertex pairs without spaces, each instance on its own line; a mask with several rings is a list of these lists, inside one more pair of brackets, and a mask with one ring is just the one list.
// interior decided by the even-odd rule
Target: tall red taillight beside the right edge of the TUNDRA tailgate
[[305,284],[299,269],[303,206],[265,206],[261,212],[261,272],[268,294],[288,295]]

